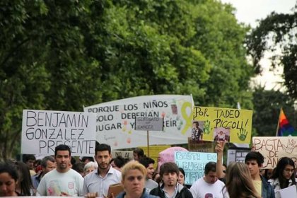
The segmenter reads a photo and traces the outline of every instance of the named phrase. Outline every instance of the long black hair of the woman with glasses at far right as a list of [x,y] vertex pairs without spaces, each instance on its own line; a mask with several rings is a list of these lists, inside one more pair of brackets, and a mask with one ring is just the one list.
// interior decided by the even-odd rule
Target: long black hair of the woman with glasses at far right
[[283,176],[284,169],[286,168],[286,165],[293,166],[293,174],[291,175],[290,179],[292,180],[292,184],[296,185],[295,180],[295,163],[291,158],[284,157],[279,160],[279,162],[276,165],[276,168],[274,168],[272,173],[272,179],[279,179],[279,185],[281,189],[289,187],[289,180],[286,180],[286,178]]

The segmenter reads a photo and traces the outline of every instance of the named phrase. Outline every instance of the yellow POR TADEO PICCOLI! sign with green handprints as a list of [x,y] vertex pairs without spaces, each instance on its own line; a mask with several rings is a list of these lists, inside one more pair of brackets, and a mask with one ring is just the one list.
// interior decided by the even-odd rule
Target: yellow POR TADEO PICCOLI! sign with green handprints
[[203,140],[250,144],[251,110],[194,107],[193,119],[203,122]]

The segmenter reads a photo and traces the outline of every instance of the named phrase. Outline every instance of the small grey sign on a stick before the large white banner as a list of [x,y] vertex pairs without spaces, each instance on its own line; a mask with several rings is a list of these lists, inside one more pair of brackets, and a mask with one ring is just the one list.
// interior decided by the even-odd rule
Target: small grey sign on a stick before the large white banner
[[163,117],[136,117],[136,131],[163,131]]

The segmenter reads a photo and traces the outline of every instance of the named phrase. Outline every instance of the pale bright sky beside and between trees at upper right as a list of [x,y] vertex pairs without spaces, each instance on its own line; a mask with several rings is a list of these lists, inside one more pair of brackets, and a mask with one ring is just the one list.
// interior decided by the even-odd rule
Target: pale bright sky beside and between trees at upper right
[[[265,18],[269,13],[292,13],[296,0],[221,0],[223,3],[230,3],[236,8],[235,16],[239,22],[250,24],[252,28],[257,26],[257,20]],[[269,54],[267,54],[269,56]],[[269,71],[269,59],[262,59],[260,62],[264,66],[262,76],[257,76],[254,81],[265,86],[267,90],[280,88],[279,81],[282,69],[279,71]]]

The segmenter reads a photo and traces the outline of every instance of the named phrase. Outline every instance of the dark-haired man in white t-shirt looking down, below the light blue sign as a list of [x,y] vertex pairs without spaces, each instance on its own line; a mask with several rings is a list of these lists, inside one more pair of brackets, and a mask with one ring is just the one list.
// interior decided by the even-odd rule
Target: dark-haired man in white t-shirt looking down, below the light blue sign
[[190,188],[194,198],[228,198],[228,192],[223,190],[224,183],[216,177],[216,163],[206,163],[204,177],[200,178]]

